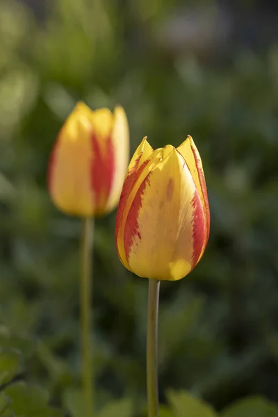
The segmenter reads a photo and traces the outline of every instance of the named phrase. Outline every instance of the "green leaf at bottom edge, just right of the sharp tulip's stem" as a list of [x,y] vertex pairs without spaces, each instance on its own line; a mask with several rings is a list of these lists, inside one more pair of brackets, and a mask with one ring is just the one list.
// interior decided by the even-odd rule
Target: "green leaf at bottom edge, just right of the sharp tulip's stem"
[[[170,391],[167,394],[167,398],[170,402],[172,409],[174,410],[175,417],[216,417],[218,414],[203,400],[193,397],[186,391],[180,391],[179,393]],[[246,416],[245,416],[246,417]]]

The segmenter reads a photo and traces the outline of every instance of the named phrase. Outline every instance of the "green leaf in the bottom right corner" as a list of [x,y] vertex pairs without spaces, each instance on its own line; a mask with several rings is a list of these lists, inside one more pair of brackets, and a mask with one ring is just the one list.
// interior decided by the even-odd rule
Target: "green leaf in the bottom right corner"
[[276,404],[263,397],[249,397],[224,409],[221,417],[278,417]]

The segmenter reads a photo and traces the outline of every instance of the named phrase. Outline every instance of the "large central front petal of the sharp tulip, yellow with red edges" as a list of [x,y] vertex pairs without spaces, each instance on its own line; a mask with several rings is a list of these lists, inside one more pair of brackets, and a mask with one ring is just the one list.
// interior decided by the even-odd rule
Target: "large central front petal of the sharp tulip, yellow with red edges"
[[177,280],[199,260],[204,211],[179,152],[168,145],[152,155],[126,201],[121,258],[140,277]]

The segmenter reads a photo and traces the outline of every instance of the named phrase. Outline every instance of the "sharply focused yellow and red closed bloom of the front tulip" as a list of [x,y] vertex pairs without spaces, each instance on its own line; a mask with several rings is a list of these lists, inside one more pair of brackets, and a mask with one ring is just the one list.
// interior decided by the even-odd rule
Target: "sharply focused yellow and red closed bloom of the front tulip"
[[199,152],[181,146],[153,150],[144,138],[124,181],[115,240],[124,266],[139,277],[175,281],[204,254],[210,213]]

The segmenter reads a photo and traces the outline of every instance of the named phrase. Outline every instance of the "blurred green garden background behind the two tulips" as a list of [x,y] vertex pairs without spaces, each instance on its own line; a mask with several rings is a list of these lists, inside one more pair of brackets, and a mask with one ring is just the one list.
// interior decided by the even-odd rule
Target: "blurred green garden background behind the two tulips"
[[[54,208],[46,178],[78,100],[122,104],[131,152],[145,135],[163,147],[190,134],[202,155],[211,237],[186,279],[161,286],[161,403],[169,389],[220,411],[249,395],[278,402],[277,2],[0,1],[0,345],[21,352],[16,379],[67,410],[81,224]],[[97,407],[129,398],[141,416],[147,280],[118,260],[114,222],[95,232]]]

